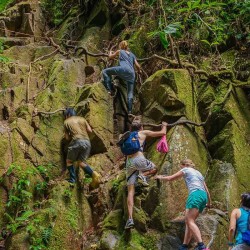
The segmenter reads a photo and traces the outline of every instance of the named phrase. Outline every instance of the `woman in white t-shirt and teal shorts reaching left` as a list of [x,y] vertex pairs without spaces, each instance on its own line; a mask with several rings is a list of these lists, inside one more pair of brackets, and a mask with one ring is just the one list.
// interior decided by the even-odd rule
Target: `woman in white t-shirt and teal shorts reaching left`
[[198,243],[195,250],[205,250],[206,246],[202,241],[201,232],[196,225],[195,220],[206,206],[208,208],[211,206],[210,194],[204,181],[204,177],[198,170],[194,169],[195,164],[191,160],[182,160],[180,167],[181,170],[173,175],[156,175],[155,179],[173,181],[181,177],[184,178],[189,194],[186,201],[185,211],[185,236],[183,244],[179,250],[187,250],[192,237],[194,237]]

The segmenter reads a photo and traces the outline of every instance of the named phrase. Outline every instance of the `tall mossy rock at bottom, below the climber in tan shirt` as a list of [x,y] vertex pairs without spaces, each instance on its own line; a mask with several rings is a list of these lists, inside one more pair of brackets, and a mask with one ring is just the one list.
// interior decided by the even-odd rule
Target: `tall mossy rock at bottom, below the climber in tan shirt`
[[[56,215],[48,249],[79,248],[81,232],[92,223],[91,208],[86,198],[76,187],[72,188],[64,181],[52,189],[48,206],[55,210]],[[72,238],[74,241],[68,244]]]

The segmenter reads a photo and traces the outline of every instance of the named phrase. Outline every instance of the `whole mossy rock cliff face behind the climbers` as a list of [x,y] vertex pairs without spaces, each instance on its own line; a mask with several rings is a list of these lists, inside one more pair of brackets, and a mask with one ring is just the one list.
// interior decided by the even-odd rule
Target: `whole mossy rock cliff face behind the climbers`
[[[135,229],[123,229],[125,159],[116,141],[130,122],[126,85],[119,82],[111,98],[100,80],[107,61],[96,57],[108,46],[103,40],[110,34],[128,39],[135,54],[143,57],[147,54],[144,31],[151,24],[146,22],[138,30],[132,27],[134,32],[128,35],[131,17],[126,12],[111,10],[106,1],[92,1],[84,8],[87,12],[79,16],[72,10],[53,33],[38,1],[14,1],[1,13],[1,56],[9,59],[0,61],[1,247],[177,249],[184,235],[187,197],[182,180],[160,187],[150,180],[148,188],[137,187]],[[72,27],[79,37],[77,46],[92,56],[65,45],[64,39],[72,40],[68,38]],[[240,66],[240,53],[222,56],[239,80],[248,80],[249,69]],[[206,121],[204,126],[169,129],[168,154],[156,152],[153,139],[145,152],[161,174],[176,172],[184,158],[195,162],[214,204],[198,223],[205,243],[220,250],[226,248],[228,213],[239,206],[240,194],[250,190],[250,112],[247,92],[235,86],[230,74],[214,72],[213,76],[206,80],[185,68],[162,67],[136,85],[134,110],[145,123]],[[82,170],[74,187],[65,180],[67,174],[61,175],[62,111],[68,106],[75,107],[93,128],[88,161],[103,180],[96,190],[89,189],[90,179]]]

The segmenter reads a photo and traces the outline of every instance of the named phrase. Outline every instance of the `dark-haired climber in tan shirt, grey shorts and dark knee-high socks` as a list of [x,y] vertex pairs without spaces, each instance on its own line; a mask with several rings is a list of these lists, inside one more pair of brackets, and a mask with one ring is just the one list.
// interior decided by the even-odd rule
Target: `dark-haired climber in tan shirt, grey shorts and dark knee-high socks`
[[64,112],[64,137],[70,141],[67,149],[66,166],[69,170],[69,182],[76,182],[76,173],[73,163],[78,162],[78,166],[92,177],[91,187],[97,188],[100,184],[100,174],[94,171],[86,162],[90,155],[91,144],[88,133],[92,129],[88,122],[81,116],[77,116],[73,108],[67,108]]

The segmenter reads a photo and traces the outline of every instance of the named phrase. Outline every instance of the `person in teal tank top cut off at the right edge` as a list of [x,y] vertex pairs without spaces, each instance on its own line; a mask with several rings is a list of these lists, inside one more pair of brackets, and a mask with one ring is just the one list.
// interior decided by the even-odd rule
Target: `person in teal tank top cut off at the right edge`
[[[234,241],[235,237],[235,242]],[[241,207],[230,217],[228,250],[250,250],[250,193],[241,195]]]

